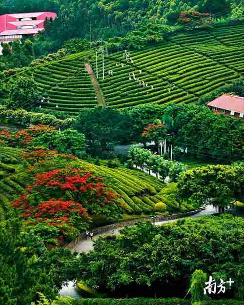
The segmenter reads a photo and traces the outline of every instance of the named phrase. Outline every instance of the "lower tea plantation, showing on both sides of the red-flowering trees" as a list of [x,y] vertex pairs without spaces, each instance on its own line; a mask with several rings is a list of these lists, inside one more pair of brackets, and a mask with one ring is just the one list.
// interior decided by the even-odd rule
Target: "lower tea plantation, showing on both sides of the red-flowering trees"
[[[14,158],[19,160],[18,158],[22,153],[22,150],[19,149],[0,147],[0,155],[5,155],[12,161]],[[11,202],[19,195],[24,194],[25,187],[31,183],[30,175],[22,170],[23,164],[20,162],[18,164],[15,166],[19,167],[11,167],[12,170],[0,179],[1,219],[6,219],[11,215],[10,211],[13,211]],[[166,212],[176,213],[179,211],[179,203],[171,199],[171,194],[167,197],[165,184],[140,170],[131,170],[124,167],[110,169],[106,166],[97,166],[81,160],[77,161],[77,166],[91,170],[96,175],[108,179],[108,185],[119,195],[117,203],[122,206],[124,214],[149,214],[153,212],[155,204],[159,202],[165,203]],[[195,206],[183,203],[181,209],[182,211],[193,210]]]

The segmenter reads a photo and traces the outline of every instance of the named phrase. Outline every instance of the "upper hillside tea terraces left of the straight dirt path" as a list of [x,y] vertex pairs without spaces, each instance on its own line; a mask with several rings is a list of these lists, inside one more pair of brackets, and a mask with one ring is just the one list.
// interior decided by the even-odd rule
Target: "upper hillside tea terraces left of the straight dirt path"
[[[84,68],[83,53],[61,61],[27,69],[23,76],[34,77],[42,93],[42,107],[76,114],[82,107],[94,107],[97,98],[92,81]],[[13,79],[11,79],[13,81]]]

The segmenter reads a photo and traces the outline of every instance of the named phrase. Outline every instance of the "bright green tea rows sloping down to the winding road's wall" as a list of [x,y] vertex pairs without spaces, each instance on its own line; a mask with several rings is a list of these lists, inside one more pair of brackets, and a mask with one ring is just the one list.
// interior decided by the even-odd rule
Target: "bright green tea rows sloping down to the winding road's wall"
[[[96,166],[80,162],[82,168],[89,168],[99,176],[107,177],[111,181],[111,188],[120,195],[118,203],[125,213],[151,213],[156,203],[166,204],[166,211],[175,213],[179,211],[179,204],[165,200],[165,184],[140,170],[131,170],[124,167],[110,169],[106,166]],[[194,206],[182,205],[182,211],[193,210]]]

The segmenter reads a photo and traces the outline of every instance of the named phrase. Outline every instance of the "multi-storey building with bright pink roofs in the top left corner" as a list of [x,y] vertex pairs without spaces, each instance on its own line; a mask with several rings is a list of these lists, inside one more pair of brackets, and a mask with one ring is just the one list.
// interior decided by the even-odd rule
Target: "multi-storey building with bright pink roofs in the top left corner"
[[[24,35],[36,35],[44,30],[46,18],[56,18],[56,13],[22,13],[0,16],[0,42],[9,42],[22,38]],[[0,53],[1,54],[1,53]]]

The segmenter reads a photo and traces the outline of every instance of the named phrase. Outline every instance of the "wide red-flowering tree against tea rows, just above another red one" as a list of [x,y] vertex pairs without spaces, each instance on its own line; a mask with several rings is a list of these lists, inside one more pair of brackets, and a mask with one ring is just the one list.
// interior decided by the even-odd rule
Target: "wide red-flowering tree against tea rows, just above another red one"
[[72,199],[85,206],[92,214],[101,214],[106,204],[116,196],[110,191],[102,178],[81,169],[55,169],[35,176],[35,182],[26,188],[27,191],[38,192],[41,198]]

